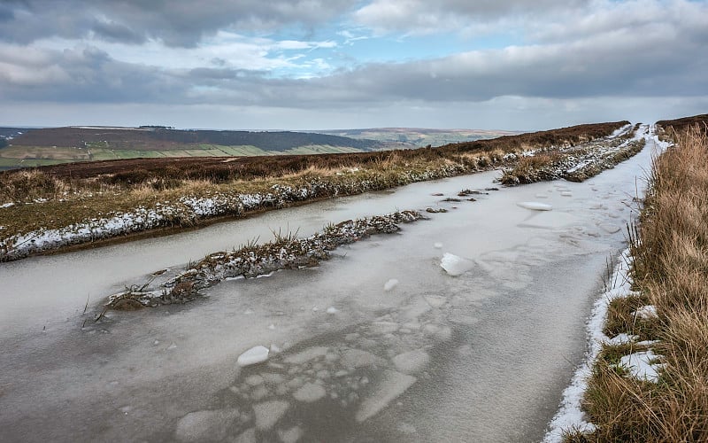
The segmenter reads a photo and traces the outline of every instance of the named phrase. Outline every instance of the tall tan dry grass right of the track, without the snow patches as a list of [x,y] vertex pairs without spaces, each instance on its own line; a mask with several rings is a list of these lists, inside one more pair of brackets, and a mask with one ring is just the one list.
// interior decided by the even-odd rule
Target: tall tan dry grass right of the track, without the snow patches
[[[642,339],[659,340],[654,349],[664,366],[658,383],[626,377],[612,365],[612,349],[605,347],[584,404],[597,430],[569,440],[708,441],[706,158],[706,134],[689,129],[655,159],[640,241],[633,245],[636,289],[642,302],[657,307],[658,318],[650,327],[624,327],[628,333],[641,332]],[[623,311],[621,306],[610,310],[612,328],[622,323]]]

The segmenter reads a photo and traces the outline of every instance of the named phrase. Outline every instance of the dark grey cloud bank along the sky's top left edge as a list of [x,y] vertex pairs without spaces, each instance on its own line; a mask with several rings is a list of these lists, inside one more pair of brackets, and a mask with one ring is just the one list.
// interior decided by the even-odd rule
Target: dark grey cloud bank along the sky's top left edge
[[0,7],[0,40],[31,43],[93,33],[110,41],[159,38],[187,47],[224,28],[311,27],[349,7],[347,0],[9,0]]

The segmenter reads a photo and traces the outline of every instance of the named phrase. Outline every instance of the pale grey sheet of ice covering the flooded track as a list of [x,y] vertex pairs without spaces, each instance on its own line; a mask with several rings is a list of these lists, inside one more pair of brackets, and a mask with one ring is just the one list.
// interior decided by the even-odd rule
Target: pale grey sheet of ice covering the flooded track
[[[592,186],[536,183],[475,196],[400,234],[338,249],[318,268],[222,282],[193,303],[108,312],[98,323],[104,297],[144,283],[146,272],[178,271],[279,228],[308,236],[330,222],[435,206],[431,194],[493,187],[498,173],[2,263],[0,440],[169,441],[183,417],[232,409],[240,415],[226,440],[542,439],[583,358],[581,319],[597,277],[623,246],[621,232],[598,225],[623,226],[635,175],[649,161],[646,150]],[[553,210],[516,205],[536,194]],[[470,268],[451,278],[445,252]],[[393,276],[400,284],[384,291]],[[267,360],[242,367],[239,355],[258,344],[270,344]],[[313,385],[325,395],[296,400],[304,386],[319,396]]]

